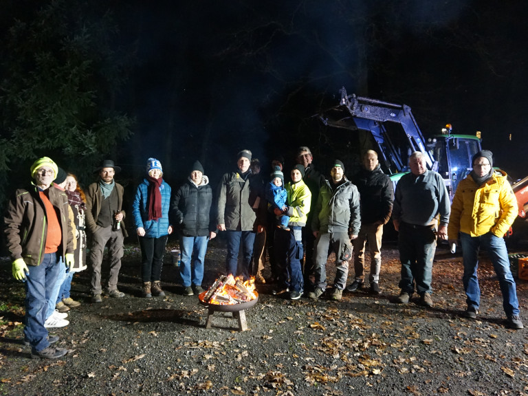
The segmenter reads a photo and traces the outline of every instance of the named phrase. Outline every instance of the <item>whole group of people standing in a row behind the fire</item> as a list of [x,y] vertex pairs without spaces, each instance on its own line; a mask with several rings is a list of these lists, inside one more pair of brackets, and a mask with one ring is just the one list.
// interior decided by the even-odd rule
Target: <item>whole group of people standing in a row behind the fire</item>
[[[432,307],[432,262],[437,239],[463,248],[464,315],[476,318],[480,305],[478,252],[486,248],[503,294],[507,325],[522,329],[516,285],[509,270],[503,235],[513,223],[517,203],[505,173],[492,167],[492,153],[472,158],[472,171],[459,184],[452,206],[441,176],[426,168],[422,153],[410,155],[410,173],[399,179],[393,193],[375,151],[367,151],[362,169],[352,180],[344,164],[332,162],[329,179],[313,164],[306,146],[298,148],[296,164],[286,183],[283,159],[272,161],[270,181],[252,172],[252,153],[242,150],[236,168],[225,173],[213,197],[203,166],[192,164],[187,181],[172,195],[163,180],[162,164],[149,158],[146,177],[133,201],[133,223],[142,252],[142,296],[164,296],[160,279],[168,235],[179,228],[181,283],[184,295],[203,292],[203,265],[208,241],[225,232],[225,272],[244,280],[275,283],[274,294],[297,300],[307,292],[318,299],[327,291],[327,259],[336,256],[336,278],[330,298],[341,300],[346,288],[364,286],[364,253],[369,242],[369,292],[380,294],[381,244],[384,224],[392,217],[399,232],[401,292],[395,302],[406,304],[416,291],[419,303]],[[108,245],[110,273],[105,293],[122,298],[118,275],[123,256],[124,188],[114,181],[120,167],[104,160],[98,181],[86,193],[75,175],[67,174],[49,157],[30,168],[32,183],[14,193],[5,211],[5,235],[14,278],[25,282],[25,342],[32,357],[55,359],[67,353],[54,347],[58,336],[49,327],[62,327],[71,307],[74,272],[87,267],[87,234],[91,236],[89,263],[91,301],[102,302],[101,265]],[[451,215],[451,217],[450,217]],[[259,237],[256,239],[256,235]],[[272,278],[263,277],[265,245]],[[239,261],[239,251],[242,259]],[[354,280],[347,286],[353,256]],[[264,257],[264,259],[263,259]]]

